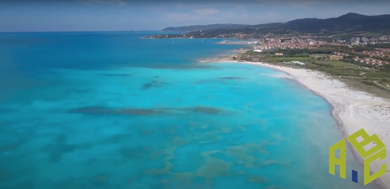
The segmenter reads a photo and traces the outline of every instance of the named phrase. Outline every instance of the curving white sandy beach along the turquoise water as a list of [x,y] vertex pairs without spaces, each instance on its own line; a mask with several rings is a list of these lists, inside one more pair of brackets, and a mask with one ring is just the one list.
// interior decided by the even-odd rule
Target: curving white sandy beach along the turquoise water
[[[278,76],[295,79],[308,89],[317,93],[317,95],[324,97],[333,105],[333,116],[339,122],[341,132],[345,137],[363,128],[370,136],[372,134],[377,134],[385,143],[387,149],[390,147],[389,100],[375,97],[367,92],[349,88],[341,81],[333,79],[331,76],[319,71],[282,67],[262,62],[223,62],[255,64],[286,72],[290,76]],[[374,146],[372,143],[370,145]],[[362,157],[358,155],[357,152],[355,152],[355,155],[358,156],[356,158],[361,161],[363,166]],[[379,161],[379,159],[374,161],[374,163],[371,164],[371,171],[378,171],[383,163],[390,166],[390,158],[386,158],[383,161]],[[390,168],[387,167],[387,169]],[[379,179],[374,180],[374,182],[378,182],[376,184],[380,188],[390,188],[390,174],[387,173]]]

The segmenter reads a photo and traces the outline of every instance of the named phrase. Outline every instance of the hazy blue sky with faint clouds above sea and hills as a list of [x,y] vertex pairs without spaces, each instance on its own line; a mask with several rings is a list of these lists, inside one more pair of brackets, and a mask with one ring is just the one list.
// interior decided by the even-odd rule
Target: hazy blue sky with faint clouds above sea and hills
[[0,32],[161,30],[390,14],[390,0],[0,0]]

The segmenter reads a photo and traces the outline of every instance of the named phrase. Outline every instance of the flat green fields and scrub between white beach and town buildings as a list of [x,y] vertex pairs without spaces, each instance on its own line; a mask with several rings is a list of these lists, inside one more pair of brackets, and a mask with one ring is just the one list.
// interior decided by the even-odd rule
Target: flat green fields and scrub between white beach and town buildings
[[[324,54],[298,54],[302,49],[284,49],[284,53],[291,55],[275,56],[269,52],[247,51],[239,55],[238,60],[252,61],[259,59],[262,62],[283,65],[288,67],[303,67],[322,71],[333,75],[339,79],[345,80],[352,87],[357,87],[367,92],[377,94],[382,97],[390,98],[390,65],[383,67],[369,68],[372,65],[347,60],[317,60]],[[311,50],[311,49],[310,49]],[[325,50],[325,49],[324,49]],[[318,49],[312,49],[318,51]],[[301,61],[306,65],[285,64],[285,62]],[[361,64],[361,65],[359,65]]]

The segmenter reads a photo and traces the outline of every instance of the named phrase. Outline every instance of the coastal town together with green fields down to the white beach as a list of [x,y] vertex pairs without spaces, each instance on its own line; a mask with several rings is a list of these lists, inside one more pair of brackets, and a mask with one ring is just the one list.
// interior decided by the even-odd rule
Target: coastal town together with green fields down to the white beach
[[243,45],[227,61],[266,62],[325,72],[352,87],[390,98],[390,36],[328,39],[326,36],[222,39],[218,44]]

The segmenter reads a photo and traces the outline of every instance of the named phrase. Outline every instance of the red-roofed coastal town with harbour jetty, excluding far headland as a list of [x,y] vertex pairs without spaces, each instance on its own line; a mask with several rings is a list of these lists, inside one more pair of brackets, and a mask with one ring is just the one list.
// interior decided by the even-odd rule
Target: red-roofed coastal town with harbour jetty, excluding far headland
[[[325,37],[321,38],[324,39]],[[249,50],[268,52],[279,57],[316,54],[315,56],[321,60],[352,60],[356,63],[366,64],[369,67],[390,64],[390,35],[351,37],[349,40],[316,40],[314,36],[301,35],[296,37],[266,37],[261,40],[248,41],[222,40],[217,44],[245,44]],[[252,58],[256,60],[259,56]]]

